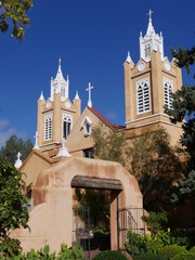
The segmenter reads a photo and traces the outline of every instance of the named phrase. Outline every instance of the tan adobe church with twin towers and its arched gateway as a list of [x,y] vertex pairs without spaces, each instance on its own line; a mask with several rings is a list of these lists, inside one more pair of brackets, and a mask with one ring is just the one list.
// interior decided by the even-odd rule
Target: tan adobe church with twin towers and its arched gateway
[[104,131],[121,131],[129,139],[132,134],[162,127],[172,144],[179,141],[181,128],[170,122],[164,105],[171,107],[171,93],[182,86],[181,69],[164,55],[164,38],[161,32],[155,32],[152,11],[146,34],[140,34],[140,60],[134,64],[128,53],[123,72],[126,123],[121,127],[93,107],[90,83],[83,112],[78,92],[73,102],[69,100],[69,79],[64,78],[58,61],[56,76],[51,79],[50,96],[44,99],[41,92],[38,100],[34,151],[22,165],[20,156],[16,161],[20,171],[26,173],[25,181],[31,192],[31,233],[24,230],[14,233],[24,250],[38,249],[46,240],[54,250],[63,242],[72,246],[74,187],[110,191],[112,249],[117,249],[120,240],[117,209],[143,207],[136,180],[120,164],[91,159],[94,147],[91,131],[102,122]]

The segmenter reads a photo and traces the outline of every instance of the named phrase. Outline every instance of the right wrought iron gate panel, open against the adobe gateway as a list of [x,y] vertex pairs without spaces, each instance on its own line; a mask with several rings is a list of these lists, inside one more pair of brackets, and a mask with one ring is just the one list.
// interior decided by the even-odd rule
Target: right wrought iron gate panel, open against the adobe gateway
[[145,234],[145,222],[142,216],[145,214],[143,208],[122,208],[117,210],[118,226],[118,249],[123,250],[128,232]]

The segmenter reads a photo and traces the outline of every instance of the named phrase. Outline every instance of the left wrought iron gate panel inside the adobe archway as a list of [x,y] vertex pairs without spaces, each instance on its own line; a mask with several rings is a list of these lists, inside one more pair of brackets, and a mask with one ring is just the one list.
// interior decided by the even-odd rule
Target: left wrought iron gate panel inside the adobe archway
[[73,244],[80,245],[84,251],[86,259],[90,260],[90,239],[93,237],[93,233],[90,230],[90,208],[74,208],[73,220]]

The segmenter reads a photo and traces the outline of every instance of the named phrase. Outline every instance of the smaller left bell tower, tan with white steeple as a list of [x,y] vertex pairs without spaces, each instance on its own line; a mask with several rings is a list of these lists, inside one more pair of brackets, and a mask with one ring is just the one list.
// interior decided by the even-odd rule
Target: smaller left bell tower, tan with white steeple
[[73,102],[69,100],[69,78],[64,78],[60,58],[56,76],[51,78],[50,98],[46,100],[41,92],[38,100],[36,148],[51,156],[62,140],[68,139],[81,109],[78,92]]

